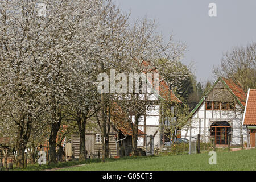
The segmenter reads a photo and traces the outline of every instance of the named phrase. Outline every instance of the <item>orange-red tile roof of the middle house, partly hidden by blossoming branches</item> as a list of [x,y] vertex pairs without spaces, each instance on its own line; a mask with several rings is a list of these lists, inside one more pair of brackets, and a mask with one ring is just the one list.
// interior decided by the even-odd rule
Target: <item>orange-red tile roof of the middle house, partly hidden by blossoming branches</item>
[[[148,67],[150,65],[150,63],[148,63],[147,61],[142,61],[142,64],[144,65],[144,67]],[[152,73],[158,73],[158,70],[156,68],[151,68],[148,69],[144,72],[152,72]],[[152,78],[154,78],[152,76]],[[153,79],[150,80],[153,82]],[[152,86],[154,86],[154,84],[151,82]],[[176,101],[179,103],[182,103],[179,98],[177,98],[177,96],[174,94],[174,92],[172,92],[172,90],[169,88],[169,86],[167,85],[167,83],[163,80],[163,78],[160,77],[159,75],[159,95],[164,98],[164,100],[167,100],[170,96],[171,96],[171,100],[172,101]]]

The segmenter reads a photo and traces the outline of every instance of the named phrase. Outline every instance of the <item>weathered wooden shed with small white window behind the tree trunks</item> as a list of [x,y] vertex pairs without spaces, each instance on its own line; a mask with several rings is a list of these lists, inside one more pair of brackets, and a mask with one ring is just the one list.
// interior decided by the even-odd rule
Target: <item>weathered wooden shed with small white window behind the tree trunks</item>
[[[109,131],[109,154],[114,156],[129,156],[132,150],[133,123],[117,103],[113,104],[111,110],[111,121]],[[143,136],[143,131],[138,129],[138,137]],[[79,159],[79,134],[72,135],[72,146],[75,159]],[[97,158],[102,154],[101,130],[100,127],[86,130],[85,147],[89,158]]]

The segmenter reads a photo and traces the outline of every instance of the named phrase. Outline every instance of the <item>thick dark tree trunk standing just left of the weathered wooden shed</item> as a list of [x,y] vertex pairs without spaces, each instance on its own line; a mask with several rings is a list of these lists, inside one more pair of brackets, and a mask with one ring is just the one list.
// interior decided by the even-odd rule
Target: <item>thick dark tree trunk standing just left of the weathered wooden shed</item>
[[56,163],[56,139],[60,124],[61,119],[59,119],[59,122],[53,122],[51,125],[51,135],[49,137],[49,164]]

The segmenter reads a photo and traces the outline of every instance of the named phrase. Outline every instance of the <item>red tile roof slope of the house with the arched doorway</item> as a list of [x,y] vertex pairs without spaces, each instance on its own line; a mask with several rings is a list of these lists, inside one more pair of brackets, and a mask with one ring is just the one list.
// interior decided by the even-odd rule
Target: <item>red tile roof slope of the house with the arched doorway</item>
[[238,98],[238,100],[241,102],[243,106],[245,106],[246,101],[246,93],[241,88],[241,85],[237,85],[230,79],[222,78],[226,82],[226,85],[232,90],[234,95]]

